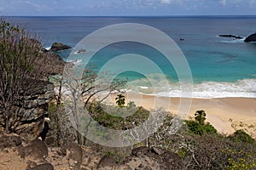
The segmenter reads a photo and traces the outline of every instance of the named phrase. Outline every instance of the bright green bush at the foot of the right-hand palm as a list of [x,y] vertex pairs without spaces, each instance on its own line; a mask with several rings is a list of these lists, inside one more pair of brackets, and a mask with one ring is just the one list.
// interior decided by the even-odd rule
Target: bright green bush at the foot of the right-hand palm
[[217,133],[217,130],[212,127],[210,123],[200,124],[195,121],[185,121],[187,126],[189,127],[190,132],[202,135],[204,133]]

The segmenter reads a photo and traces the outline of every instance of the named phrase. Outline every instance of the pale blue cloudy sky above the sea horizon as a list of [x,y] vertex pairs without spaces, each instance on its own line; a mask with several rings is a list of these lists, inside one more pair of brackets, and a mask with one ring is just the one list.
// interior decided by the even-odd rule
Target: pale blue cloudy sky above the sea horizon
[[0,0],[4,16],[256,15],[256,0]]

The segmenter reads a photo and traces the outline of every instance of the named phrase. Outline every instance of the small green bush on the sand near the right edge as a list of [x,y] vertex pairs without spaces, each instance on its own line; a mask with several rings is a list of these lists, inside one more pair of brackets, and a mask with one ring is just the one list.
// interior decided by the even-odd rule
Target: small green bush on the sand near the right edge
[[237,130],[234,134],[230,135],[229,138],[235,142],[253,144],[255,140],[243,130]]

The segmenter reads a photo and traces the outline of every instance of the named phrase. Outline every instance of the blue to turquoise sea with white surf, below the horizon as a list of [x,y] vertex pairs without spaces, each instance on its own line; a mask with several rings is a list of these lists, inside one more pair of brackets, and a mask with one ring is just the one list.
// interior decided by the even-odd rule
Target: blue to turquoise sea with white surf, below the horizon
[[[153,26],[165,32],[182,49],[193,76],[193,97],[256,98],[256,42],[246,43],[243,39],[218,37],[220,34],[249,36],[256,31],[256,16],[8,17],[8,20],[20,23],[27,31],[37,32],[45,48],[49,48],[53,42],[75,47],[91,32],[113,24],[139,23]],[[181,37],[183,41],[180,41]],[[70,52],[67,50],[58,54],[67,59]],[[148,75],[124,72],[119,77],[127,77],[131,87],[138,87],[145,94],[150,94],[152,88],[146,77],[153,77],[161,87],[157,91],[158,95],[179,96],[178,77],[172,65],[166,65],[166,59],[146,45],[136,42],[115,43],[102,48],[91,62],[101,68],[114,56],[131,53],[146,56],[159,65],[171,88],[161,87],[159,73],[150,71],[150,68]]]

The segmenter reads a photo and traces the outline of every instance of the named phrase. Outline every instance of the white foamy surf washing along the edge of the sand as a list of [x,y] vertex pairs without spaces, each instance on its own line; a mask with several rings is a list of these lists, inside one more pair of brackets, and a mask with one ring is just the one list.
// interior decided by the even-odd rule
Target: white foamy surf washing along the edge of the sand
[[[132,82],[130,83],[132,84]],[[191,85],[191,84],[190,84]],[[131,88],[140,94],[157,95],[163,97],[193,97],[198,99],[212,98],[256,98],[256,79],[243,79],[236,82],[201,82],[193,84],[191,89],[192,96],[189,93],[183,93],[179,82],[170,82],[169,87],[138,87]],[[186,89],[188,92],[188,89]],[[190,94],[191,94],[190,93]]]

